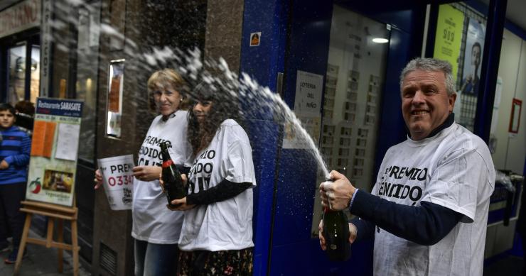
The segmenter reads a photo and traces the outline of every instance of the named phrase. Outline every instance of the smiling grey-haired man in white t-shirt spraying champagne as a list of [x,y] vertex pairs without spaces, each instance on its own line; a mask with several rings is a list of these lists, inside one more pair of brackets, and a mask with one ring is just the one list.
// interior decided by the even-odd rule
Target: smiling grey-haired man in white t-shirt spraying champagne
[[407,140],[387,150],[370,194],[333,171],[322,204],[357,216],[350,243],[375,239],[375,275],[482,275],[495,183],[488,146],[454,122],[449,62],[412,60],[400,87]]

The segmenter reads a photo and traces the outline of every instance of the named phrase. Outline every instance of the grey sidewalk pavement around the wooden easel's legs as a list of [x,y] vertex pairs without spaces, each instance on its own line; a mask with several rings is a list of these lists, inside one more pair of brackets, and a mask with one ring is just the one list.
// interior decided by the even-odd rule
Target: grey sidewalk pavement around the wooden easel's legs
[[[29,236],[33,238],[42,238],[33,231],[29,231]],[[28,255],[22,259],[22,265],[18,275],[20,276],[63,276],[73,275],[73,257],[70,250],[63,250],[63,273],[58,273],[58,254],[57,248],[46,248],[43,245],[27,244],[26,250]],[[0,276],[13,275],[15,265],[7,265],[4,259],[11,253],[11,249],[0,253]],[[82,262],[79,265],[79,275],[91,275],[84,267]]]

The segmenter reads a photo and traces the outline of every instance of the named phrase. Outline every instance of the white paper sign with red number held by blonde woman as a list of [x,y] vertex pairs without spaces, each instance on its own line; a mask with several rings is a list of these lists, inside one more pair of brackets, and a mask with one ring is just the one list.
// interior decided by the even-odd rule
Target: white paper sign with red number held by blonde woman
[[109,207],[112,210],[132,209],[134,156],[102,158],[98,162]]

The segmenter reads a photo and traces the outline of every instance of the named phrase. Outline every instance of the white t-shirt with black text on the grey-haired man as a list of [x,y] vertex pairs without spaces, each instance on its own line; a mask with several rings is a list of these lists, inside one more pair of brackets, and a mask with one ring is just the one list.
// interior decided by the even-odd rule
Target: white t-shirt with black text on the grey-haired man
[[422,201],[439,204],[463,214],[463,219],[431,246],[377,228],[374,274],[482,275],[494,184],[488,146],[457,123],[431,138],[408,138],[387,150],[372,194],[409,206]]

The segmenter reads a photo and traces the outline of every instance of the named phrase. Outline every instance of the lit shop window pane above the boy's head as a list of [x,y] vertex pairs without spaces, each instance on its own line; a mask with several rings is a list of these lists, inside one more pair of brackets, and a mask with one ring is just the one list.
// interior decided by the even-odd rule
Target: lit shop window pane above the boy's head
[[9,88],[7,101],[12,105],[25,99],[26,44],[9,48]]

